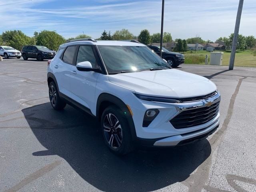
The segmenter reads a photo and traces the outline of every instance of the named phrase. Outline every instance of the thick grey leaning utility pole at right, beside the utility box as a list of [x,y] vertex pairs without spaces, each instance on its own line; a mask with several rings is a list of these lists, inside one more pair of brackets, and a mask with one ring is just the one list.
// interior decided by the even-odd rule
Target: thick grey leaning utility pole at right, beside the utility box
[[229,61],[229,70],[234,69],[234,62],[235,62],[235,55],[236,55],[236,44],[238,39],[238,32],[239,32],[239,26],[240,26],[240,20],[242,15],[242,9],[243,9],[244,0],[239,0],[237,15],[236,15],[236,26],[234,31],[234,37],[232,41],[232,50],[230,54],[230,61]]

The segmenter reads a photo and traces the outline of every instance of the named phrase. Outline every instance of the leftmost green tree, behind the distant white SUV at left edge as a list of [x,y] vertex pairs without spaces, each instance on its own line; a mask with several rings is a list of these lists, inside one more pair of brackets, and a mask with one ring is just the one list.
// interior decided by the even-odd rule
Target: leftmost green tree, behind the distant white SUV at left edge
[[21,50],[24,45],[34,45],[36,44],[35,39],[26,36],[20,30],[6,31],[2,33],[3,42],[17,50]]

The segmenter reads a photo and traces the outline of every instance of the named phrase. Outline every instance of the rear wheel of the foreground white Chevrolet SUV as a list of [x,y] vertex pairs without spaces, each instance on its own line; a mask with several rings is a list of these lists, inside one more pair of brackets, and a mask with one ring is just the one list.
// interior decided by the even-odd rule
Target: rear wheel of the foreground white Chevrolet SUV
[[62,101],[59,96],[58,89],[54,81],[49,84],[49,98],[52,108],[55,110],[62,110],[66,106],[66,102]]

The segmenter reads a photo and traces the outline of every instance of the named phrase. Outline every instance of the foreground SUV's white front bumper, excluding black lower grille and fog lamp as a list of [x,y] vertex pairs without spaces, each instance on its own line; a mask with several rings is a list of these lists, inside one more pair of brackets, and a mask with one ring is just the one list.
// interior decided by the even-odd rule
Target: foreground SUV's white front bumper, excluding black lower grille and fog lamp
[[[219,109],[214,118],[197,126],[174,128],[170,120],[183,111],[204,108],[209,104],[213,105],[217,102],[220,102],[219,93],[207,99],[183,103],[163,103],[140,100],[140,104],[145,107],[144,110],[138,110],[139,108],[132,109],[134,112],[133,120],[138,144],[156,147],[178,146],[206,138],[209,134],[212,134],[220,124]],[[138,106],[138,104],[136,105]],[[148,127],[142,127],[142,116],[144,116],[145,111],[150,108],[157,108],[160,113]]]

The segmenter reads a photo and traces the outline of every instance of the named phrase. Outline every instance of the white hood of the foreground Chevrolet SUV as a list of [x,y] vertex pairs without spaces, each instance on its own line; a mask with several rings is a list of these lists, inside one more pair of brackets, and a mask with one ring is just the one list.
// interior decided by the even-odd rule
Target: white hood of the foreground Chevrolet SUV
[[148,96],[186,98],[209,94],[216,85],[202,76],[176,69],[122,73],[110,82]]

